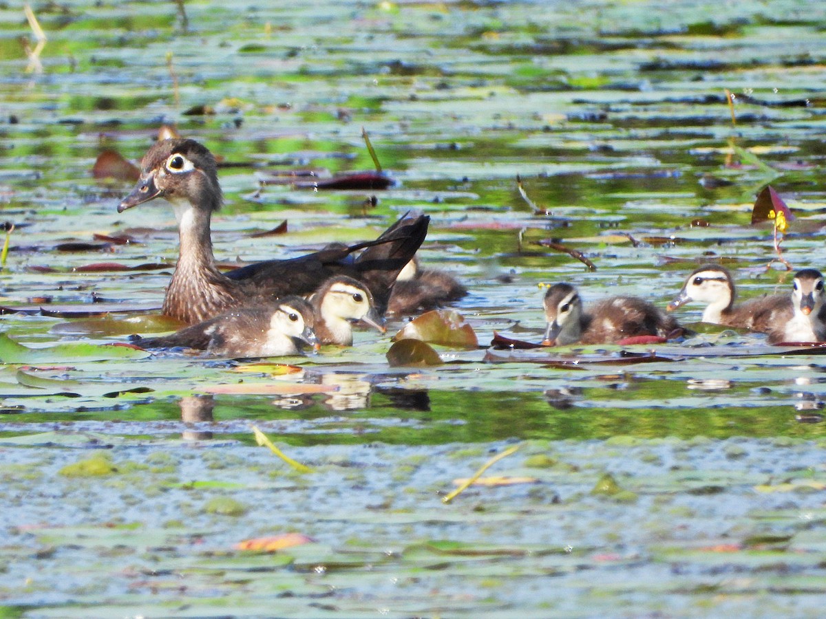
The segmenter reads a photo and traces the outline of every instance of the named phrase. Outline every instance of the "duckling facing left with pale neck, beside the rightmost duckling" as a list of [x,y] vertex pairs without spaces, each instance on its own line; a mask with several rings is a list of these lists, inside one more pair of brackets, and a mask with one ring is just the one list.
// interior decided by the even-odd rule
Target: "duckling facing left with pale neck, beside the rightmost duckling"
[[737,292],[731,272],[717,264],[704,264],[686,278],[679,295],[668,304],[673,311],[691,303],[706,303],[703,322],[766,332],[771,325],[786,322],[792,314],[790,295],[767,295],[734,305]]

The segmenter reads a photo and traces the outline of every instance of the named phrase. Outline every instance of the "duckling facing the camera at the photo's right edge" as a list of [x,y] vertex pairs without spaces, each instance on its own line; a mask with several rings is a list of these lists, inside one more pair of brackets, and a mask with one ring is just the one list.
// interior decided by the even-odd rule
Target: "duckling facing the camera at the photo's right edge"
[[790,311],[766,329],[769,343],[824,342],[824,295],[824,277],[819,271],[803,269],[796,272],[789,297]]

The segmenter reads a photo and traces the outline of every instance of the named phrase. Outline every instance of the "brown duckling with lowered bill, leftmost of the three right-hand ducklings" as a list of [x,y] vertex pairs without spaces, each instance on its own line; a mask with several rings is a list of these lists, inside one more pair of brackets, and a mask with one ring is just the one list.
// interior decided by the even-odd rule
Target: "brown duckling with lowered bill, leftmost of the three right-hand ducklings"
[[585,311],[577,289],[565,283],[548,288],[544,307],[546,344],[610,343],[641,335],[667,338],[680,328],[675,319],[635,296],[615,296]]

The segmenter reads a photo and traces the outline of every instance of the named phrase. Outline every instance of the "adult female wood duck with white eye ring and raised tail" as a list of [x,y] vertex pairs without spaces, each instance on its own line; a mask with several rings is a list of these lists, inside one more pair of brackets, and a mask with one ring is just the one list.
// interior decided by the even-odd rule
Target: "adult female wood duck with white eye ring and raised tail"
[[[221,208],[215,158],[193,139],[164,139],[141,162],[140,181],[117,207],[163,197],[178,219],[178,264],[164,298],[163,312],[188,324],[208,319],[252,297],[310,294],[330,276],[344,274],[366,284],[378,314],[387,308],[393,283],[427,234],[426,215],[403,216],[378,239],[326,248],[289,260],[270,260],[223,274],[215,265],[210,219]],[[354,260],[348,258],[363,249]]]

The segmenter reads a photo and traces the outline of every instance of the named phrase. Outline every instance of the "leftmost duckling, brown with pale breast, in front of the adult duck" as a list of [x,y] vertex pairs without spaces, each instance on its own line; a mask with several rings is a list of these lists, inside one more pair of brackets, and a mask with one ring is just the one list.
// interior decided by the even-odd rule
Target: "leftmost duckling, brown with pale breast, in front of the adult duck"
[[318,346],[313,332],[315,311],[299,296],[268,305],[232,309],[160,338],[131,340],[142,348],[187,347],[222,357],[282,357],[297,355],[301,345]]

